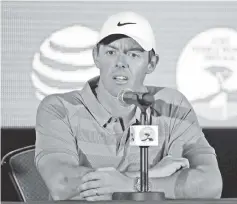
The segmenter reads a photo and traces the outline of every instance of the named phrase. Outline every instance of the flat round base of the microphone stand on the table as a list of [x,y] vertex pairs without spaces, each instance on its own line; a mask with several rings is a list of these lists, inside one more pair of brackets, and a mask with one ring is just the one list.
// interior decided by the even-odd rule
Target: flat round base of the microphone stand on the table
[[163,192],[115,192],[112,200],[132,200],[132,201],[163,201]]

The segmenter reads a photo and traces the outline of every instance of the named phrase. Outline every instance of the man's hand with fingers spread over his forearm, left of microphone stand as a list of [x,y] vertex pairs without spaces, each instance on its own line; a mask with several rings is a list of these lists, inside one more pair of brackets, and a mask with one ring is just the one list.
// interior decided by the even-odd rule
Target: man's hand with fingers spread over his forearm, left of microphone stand
[[82,182],[80,196],[89,201],[111,200],[114,192],[133,190],[133,179],[114,168],[90,172],[82,177]]

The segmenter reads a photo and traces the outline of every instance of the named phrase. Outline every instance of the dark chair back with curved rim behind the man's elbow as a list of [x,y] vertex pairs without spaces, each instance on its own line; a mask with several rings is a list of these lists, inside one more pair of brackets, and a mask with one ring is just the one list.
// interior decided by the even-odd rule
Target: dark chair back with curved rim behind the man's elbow
[[35,146],[20,148],[2,159],[20,200],[47,201],[49,191],[34,164]]

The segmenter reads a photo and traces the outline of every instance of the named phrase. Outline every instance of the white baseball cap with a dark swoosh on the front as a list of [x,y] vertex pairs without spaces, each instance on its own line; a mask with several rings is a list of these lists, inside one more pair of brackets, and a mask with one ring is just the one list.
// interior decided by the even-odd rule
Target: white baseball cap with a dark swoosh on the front
[[156,42],[153,30],[147,19],[134,12],[121,12],[110,16],[104,23],[98,42],[112,34],[123,34],[133,38],[141,47],[156,53]]

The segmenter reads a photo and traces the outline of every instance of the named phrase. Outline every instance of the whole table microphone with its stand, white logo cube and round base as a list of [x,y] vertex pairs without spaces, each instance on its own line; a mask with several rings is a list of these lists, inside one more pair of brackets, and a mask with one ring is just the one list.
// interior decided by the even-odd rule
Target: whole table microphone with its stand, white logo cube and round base
[[[118,100],[124,106],[136,105],[141,109],[140,122],[129,128],[129,143],[131,146],[140,148],[140,177],[136,177],[134,190],[136,192],[114,192],[113,200],[136,200],[160,201],[165,199],[164,192],[150,192],[151,183],[149,182],[149,146],[159,145],[159,127],[151,125],[146,121],[146,109],[155,101],[154,96],[150,93],[134,92],[132,90],[122,90],[118,96]],[[149,125],[150,124],[150,125]]]

